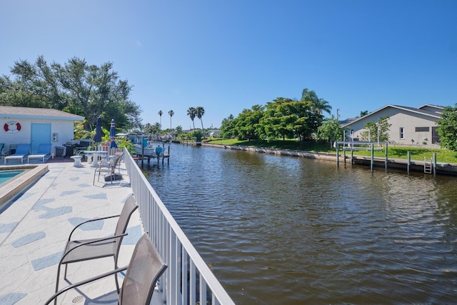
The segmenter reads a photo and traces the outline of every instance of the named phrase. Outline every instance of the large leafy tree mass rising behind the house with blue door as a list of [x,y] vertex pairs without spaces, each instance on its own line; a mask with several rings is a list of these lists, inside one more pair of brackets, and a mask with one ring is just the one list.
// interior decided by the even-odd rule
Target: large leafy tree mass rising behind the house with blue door
[[19,60],[10,76],[0,76],[0,104],[58,109],[86,118],[84,129],[96,126],[99,117],[109,129],[111,119],[116,128],[131,129],[141,125],[141,109],[129,99],[131,86],[119,79],[113,64],[87,64],[74,57],[65,64],[48,64],[39,56],[31,64]]

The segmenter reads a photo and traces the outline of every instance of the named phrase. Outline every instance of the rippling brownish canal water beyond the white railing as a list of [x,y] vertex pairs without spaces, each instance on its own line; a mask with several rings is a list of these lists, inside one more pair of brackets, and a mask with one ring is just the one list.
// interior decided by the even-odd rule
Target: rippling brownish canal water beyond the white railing
[[236,304],[456,302],[455,177],[180,144],[170,153],[143,170]]

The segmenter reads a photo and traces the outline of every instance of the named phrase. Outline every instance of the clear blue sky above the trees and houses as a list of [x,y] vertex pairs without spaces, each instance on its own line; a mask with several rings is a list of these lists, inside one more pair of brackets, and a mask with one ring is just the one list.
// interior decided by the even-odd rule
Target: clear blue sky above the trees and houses
[[39,55],[111,61],[143,123],[161,110],[164,129],[189,129],[191,106],[219,127],[303,88],[340,119],[386,104],[454,106],[456,16],[454,0],[4,0],[0,74]]

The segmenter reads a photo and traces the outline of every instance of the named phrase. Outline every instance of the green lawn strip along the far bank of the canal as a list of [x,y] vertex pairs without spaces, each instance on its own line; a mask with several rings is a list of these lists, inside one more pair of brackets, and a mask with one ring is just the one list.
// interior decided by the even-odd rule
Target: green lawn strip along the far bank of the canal
[[[330,147],[330,144],[318,144],[314,142],[299,142],[295,140],[251,140],[251,141],[238,141],[236,139],[221,140],[214,139],[210,141],[214,144],[224,145],[243,145],[255,147],[270,147],[274,149],[294,149],[299,151],[319,151],[336,154],[336,150]],[[457,152],[448,149],[426,149],[416,147],[388,147],[388,157],[392,159],[408,159],[408,151],[411,151],[411,160],[423,161],[426,157],[430,160],[433,153],[436,153],[436,160],[440,163],[453,163],[457,164]],[[350,154],[350,152],[348,152]],[[355,151],[354,155],[358,156],[371,156],[371,151]],[[375,151],[375,156],[384,157],[384,151]]]

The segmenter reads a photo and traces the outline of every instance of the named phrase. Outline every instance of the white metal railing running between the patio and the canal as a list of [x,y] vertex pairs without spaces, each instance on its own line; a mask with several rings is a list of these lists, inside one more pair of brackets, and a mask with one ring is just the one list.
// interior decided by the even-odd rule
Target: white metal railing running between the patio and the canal
[[144,230],[168,265],[159,283],[166,304],[234,304],[126,149],[124,161]]

